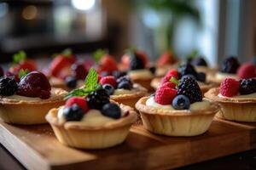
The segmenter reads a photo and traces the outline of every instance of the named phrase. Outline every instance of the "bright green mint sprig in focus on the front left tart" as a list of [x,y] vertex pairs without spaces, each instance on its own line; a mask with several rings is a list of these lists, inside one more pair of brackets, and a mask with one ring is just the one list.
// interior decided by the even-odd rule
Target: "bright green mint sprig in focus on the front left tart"
[[65,96],[65,99],[75,96],[86,96],[90,92],[96,91],[101,85],[98,83],[98,74],[95,69],[90,68],[90,71],[85,78],[84,88],[74,89]]

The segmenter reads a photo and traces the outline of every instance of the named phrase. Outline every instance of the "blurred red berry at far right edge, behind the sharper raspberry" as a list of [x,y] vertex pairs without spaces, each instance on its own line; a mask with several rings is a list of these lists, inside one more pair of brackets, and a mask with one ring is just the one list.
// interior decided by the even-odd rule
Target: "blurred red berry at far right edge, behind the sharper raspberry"
[[237,76],[240,78],[253,78],[256,77],[255,66],[251,63],[241,65],[237,71]]

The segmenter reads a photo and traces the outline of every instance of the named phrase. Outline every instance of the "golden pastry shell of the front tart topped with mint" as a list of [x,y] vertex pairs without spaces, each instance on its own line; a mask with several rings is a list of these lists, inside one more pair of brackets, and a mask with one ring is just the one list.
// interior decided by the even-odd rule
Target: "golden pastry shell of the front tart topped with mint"
[[131,124],[137,120],[137,113],[131,107],[119,106],[122,111],[129,111],[128,116],[97,127],[86,125],[84,122],[58,122],[57,114],[60,108],[50,110],[46,120],[62,144],[80,149],[103,149],[123,143]]

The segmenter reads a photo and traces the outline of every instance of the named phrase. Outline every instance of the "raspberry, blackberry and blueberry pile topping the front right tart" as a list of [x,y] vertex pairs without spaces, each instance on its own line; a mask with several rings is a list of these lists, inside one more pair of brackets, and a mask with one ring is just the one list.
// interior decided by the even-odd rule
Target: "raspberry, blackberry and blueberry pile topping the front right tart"
[[[157,88],[154,101],[160,105],[171,105],[177,110],[189,109],[189,105],[202,100],[201,89],[192,77],[183,77],[177,82],[178,72],[168,72],[169,80]],[[172,81],[172,77],[173,80]]]

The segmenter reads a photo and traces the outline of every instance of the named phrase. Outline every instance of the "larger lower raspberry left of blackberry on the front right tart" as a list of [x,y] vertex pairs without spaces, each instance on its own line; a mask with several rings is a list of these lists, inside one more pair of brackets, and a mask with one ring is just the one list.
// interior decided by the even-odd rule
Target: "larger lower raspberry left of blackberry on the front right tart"
[[177,90],[173,88],[158,88],[154,95],[154,101],[160,105],[172,105],[172,99],[177,95]]

